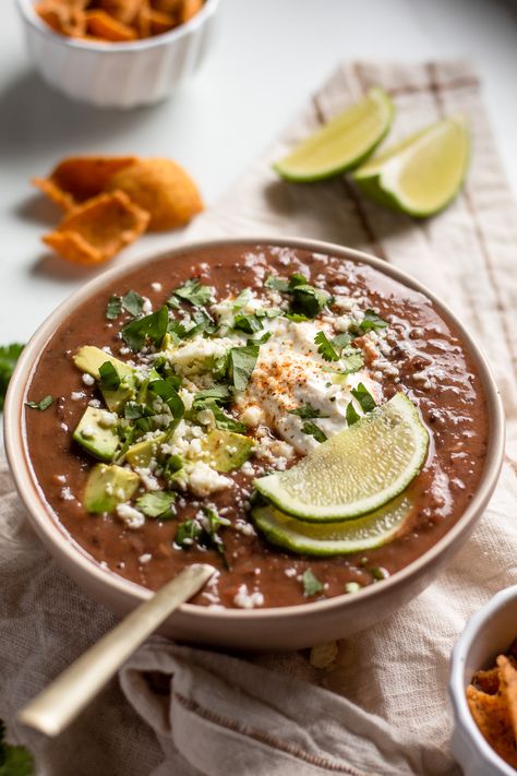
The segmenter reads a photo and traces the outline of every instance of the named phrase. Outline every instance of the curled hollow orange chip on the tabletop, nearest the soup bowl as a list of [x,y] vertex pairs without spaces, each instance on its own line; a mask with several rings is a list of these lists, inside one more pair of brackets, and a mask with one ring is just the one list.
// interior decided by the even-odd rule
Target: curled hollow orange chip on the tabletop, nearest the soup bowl
[[108,261],[145,231],[149,215],[122,191],[99,194],[75,207],[43,241],[77,264]]

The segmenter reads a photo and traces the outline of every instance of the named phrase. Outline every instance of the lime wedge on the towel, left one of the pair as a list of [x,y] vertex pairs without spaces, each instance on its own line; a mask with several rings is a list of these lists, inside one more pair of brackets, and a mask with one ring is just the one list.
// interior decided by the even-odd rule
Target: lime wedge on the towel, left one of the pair
[[357,167],[388,131],[394,105],[381,88],[352,105],[274,165],[281,178],[298,182],[323,180]]

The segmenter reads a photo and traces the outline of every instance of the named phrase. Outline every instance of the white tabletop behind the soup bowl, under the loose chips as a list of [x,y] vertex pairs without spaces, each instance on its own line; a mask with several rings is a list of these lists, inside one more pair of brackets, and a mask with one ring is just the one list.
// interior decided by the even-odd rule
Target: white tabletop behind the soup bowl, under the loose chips
[[[175,98],[130,112],[96,110],[47,88],[31,70],[14,0],[0,23],[0,344],[24,342],[88,277],[40,243],[55,211],[32,176],[63,156],[170,156],[207,206],[345,58],[472,59],[501,156],[517,192],[517,3],[513,0],[224,0],[219,38]],[[173,244],[145,236],[116,261]]]

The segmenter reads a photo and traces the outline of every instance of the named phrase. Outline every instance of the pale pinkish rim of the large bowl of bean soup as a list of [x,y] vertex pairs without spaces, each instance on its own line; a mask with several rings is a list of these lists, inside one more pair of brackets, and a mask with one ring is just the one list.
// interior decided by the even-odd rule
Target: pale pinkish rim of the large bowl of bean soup
[[[69,312],[76,306],[82,305],[87,298],[101,291],[101,289],[107,287],[109,284],[115,280],[119,280],[125,274],[133,272],[145,264],[153,263],[161,258],[165,259],[166,256],[173,258],[175,255],[182,253],[195,253],[196,251],[206,248],[248,244],[250,247],[261,244],[278,246],[308,250],[313,253],[329,253],[345,261],[366,264],[382,274],[387,275],[402,285],[426,296],[436,306],[441,314],[444,314],[445,318],[448,317],[449,320],[452,320],[458,329],[462,342],[466,344],[471,356],[477,362],[481,382],[486,394],[488,415],[492,433],[486,451],[485,468],[483,470],[479,488],[464,514],[435,545],[433,545],[429,550],[407,566],[399,570],[396,574],[389,576],[387,580],[384,580],[382,585],[369,585],[353,596],[341,594],[321,601],[310,601],[306,604],[298,604],[296,606],[293,605],[287,607],[269,607],[263,609],[209,609],[207,607],[200,607],[193,604],[183,604],[179,611],[189,614],[189,617],[192,617],[193,620],[197,620],[200,622],[206,621],[206,619],[211,619],[216,622],[233,620],[247,622],[260,619],[263,621],[275,621],[278,618],[285,617],[303,619],[309,612],[315,612],[316,610],[320,613],[323,613],[325,610],[339,609],[347,604],[356,606],[362,600],[366,604],[368,599],[374,595],[378,595],[378,590],[381,589],[383,593],[387,594],[390,589],[405,585],[407,581],[418,577],[420,572],[423,571],[428,564],[431,564],[432,561],[436,560],[437,557],[450,545],[454,545],[456,537],[460,536],[464,530],[466,530],[467,527],[477,520],[480,513],[484,510],[488,500],[495,488],[503,462],[505,438],[504,410],[498,389],[495,384],[494,378],[492,377],[486,359],[473,342],[472,337],[465,330],[461,322],[447,308],[447,306],[440,301],[440,299],[437,299],[432,291],[429,291],[425,286],[420,284],[418,280],[414,280],[410,275],[363,251],[358,251],[344,246],[337,246],[332,242],[300,237],[279,238],[275,236],[260,235],[257,237],[226,237],[185,242],[180,246],[175,246],[168,250],[160,250],[151,254],[144,254],[139,259],[132,260],[128,264],[119,264],[118,266],[115,266],[106,272],[101,272],[97,277],[77,288],[37,327],[36,332],[33,334],[22,351],[14,373],[11,378],[3,414],[8,462],[10,464],[16,489],[27,510],[33,526],[36,528],[38,534],[45,535],[49,545],[55,546],[56,549],[59,550],[60,557],[62,554],[67,556],[73,564],[81,566],[87,577],[95,577],[100,585],[106,585],[108,588],[111,588],[113,594],[118,593],[125,597],[133,598],[135,605],[153,595],[149,589],[125,580],[109,570],[103,569],[91,558],[91,556],[86,553],[86,551],[74,542],[73,538],[65,533],[64,528],[59,530],[59,523],[56,515],[53,515],[50,508],[46,504],[44,497],[39,491],[39,486],[31,473],[28,456],[26,455],[26,447],[24,444],[23,408],[33,370],[37,365],[38,357],[44,350],[46,343],[53,334],[56,327],[62,323]],[[21,465],[22,463],[23,466]]]

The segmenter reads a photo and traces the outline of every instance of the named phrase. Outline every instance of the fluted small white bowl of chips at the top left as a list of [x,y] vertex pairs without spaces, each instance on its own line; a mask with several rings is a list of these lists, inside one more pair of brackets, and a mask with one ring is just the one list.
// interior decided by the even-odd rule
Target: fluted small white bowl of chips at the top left
[[72,99],[133,108],[167,97],[197,69],[213,40],[219,0],[205,0],[187,24],[132,43],[94,44],[55,33],[34,0],[17,0],[28,51],[50,86]]

